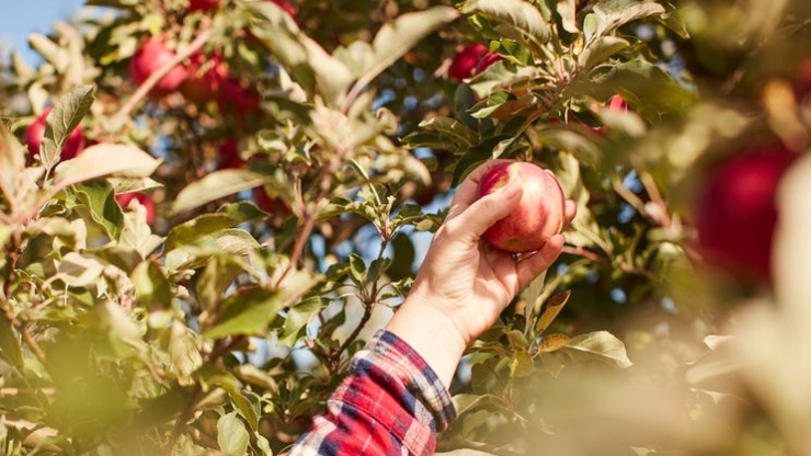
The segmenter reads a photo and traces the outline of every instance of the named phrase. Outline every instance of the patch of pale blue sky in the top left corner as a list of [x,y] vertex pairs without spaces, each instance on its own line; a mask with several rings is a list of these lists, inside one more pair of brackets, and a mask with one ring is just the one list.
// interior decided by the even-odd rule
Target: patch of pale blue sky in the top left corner
[[54,21],[69,19],[82,4],[84,0],[2,0],[0,43],[3,57],[13,48],[27,61],[33,61],[34,54],[25,41],[28,33],[49,32]]

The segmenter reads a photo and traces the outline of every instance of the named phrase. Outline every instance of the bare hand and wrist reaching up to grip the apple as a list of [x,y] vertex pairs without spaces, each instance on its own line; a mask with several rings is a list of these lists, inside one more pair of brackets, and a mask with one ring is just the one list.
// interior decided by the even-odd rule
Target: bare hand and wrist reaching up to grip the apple
[[[563,248],[563,236],[556,235],[541,250],[514,259],[481,240],[488,228],[513,210],[522,194],[521,185],[513,184],[477,200],[481,175],[496,162],[480,166],[459,185],[411,293],[387,327],[420,352],[441,378],[445,376],[446,385],[465,347]],[[574,202],[566,203],[567,224],[575,208]]]

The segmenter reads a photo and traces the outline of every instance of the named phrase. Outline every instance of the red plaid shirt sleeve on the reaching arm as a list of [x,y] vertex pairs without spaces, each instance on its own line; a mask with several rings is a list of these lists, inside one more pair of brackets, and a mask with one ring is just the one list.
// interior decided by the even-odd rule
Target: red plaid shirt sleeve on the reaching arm
[[352,361],[327,411],[287,456],[433,455],[456,418],[450,395],[411,346],[379,331]]

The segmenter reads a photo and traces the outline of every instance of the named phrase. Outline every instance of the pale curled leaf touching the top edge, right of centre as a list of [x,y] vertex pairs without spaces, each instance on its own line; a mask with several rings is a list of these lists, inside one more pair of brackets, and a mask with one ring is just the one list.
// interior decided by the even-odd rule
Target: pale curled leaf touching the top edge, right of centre
[[541,47],[552,36],[552,29],[540,11],[523,0],[468,0],[461,12],[492,16],[509,26],[507,30],[500,30],[509,38],[522,41],[526,37],[536,47]]

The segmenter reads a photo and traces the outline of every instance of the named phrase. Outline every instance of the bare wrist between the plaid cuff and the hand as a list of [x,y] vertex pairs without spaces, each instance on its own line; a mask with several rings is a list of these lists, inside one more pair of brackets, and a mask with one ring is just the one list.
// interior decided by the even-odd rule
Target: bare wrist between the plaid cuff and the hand
[[411,295],[400,305],[386,330],[408,343],[445,387],[450,387],[467,341],[449,316]]

